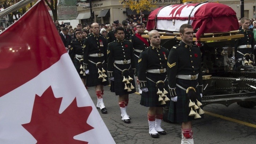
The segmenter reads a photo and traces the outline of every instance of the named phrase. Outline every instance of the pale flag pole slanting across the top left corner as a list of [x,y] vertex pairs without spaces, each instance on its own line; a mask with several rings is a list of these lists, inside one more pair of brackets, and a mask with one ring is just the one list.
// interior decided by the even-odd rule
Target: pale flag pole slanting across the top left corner
[[20,8],[28,5],[32,1],[35,1],[35,0],[22,0],[22,1],[19,1],[16,4],[14,4],[10,7],[7,7],[5,10],[0,12],[0,18],[5,17],[6,15],[10,14],[11,12],[19,10]]

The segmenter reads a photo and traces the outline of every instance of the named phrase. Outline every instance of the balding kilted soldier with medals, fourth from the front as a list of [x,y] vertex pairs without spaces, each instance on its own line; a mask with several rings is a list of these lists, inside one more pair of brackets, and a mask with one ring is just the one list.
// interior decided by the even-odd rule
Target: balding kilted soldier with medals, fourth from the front
[[101,113],[106,114],[107,109],[103,103],[103,86],[108,85],[106,72],[107,62],[107,41],[100,36],[98,23],[91,24],[92,34],[89,34],[84,41],[84,69],[87,77],[87,86],[95,86],[97,95],[97,108]]

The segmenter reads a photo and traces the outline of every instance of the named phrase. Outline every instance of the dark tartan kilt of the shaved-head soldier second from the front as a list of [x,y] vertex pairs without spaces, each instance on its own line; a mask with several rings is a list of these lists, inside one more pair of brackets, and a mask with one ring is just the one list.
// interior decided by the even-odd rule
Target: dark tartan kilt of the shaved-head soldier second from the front
[[[168,80],[166,79],[166,73],[147,73],[147,77],[153,80],[147,79],[148,83],[148,92],[142,92],[141,94],[141,102],[140,104],[145,107],[167,107],[169,105],[169,102],[166,102],[166,104],[160,105],[160,102],[158,101],[159,95],[156,94],[158,91],[158,88],[156,87],[156,82],[159,80],[162,80],[165,82],[165,90],[168,91]],[[168,91],[169,92],[169,91]],[[166,94],[168,98],[170,98],[170,94]],[[170,98],[171,100],[171,98]]]

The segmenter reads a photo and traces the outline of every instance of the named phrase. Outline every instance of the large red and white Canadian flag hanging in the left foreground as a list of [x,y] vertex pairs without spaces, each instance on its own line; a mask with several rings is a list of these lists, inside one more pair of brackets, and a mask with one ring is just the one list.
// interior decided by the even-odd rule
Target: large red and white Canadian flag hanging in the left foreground
[[1,144],[115,144],[43,0],[0,33]]

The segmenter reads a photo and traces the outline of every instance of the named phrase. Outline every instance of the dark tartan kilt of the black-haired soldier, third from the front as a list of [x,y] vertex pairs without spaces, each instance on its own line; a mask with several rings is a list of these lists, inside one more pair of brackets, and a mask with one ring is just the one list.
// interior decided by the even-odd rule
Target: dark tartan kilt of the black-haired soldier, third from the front
[[[124,69],[128,69],[130,67],[130,64],[128,64],[128,65],[116,64],[116,66],[118,68],[120,68],[121,70],[124,70]],[[118,70],[116,67],[113,68],[114,81],[111,81],[110,90],[111,90],[111,92],[115,92],[115,95],[126,95],[126,94],[132,94],[132,93],[136,92],[135,80],[134,80],[134,76],[133,76],[134,73],[133,73],[132,68],[129,69],[129,72],[130,72],[130,77],[133,78],[133,80],[130,83],[134,86],[134,89],[132,89],[132,91],[130,91],[130,92],[128,92],[127,90],[124,90],[125,83],[122,82],[123,78],[124,78],[124,77],[122,77],[122,72],[120,70]]]

